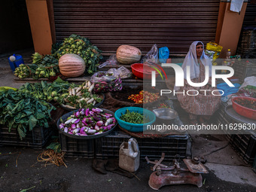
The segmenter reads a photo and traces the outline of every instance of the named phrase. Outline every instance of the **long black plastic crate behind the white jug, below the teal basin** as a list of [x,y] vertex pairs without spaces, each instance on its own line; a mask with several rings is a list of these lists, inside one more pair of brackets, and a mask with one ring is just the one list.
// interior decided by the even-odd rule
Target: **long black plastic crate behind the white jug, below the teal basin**
[[[111,135],[96,139],[96,158],[118,158],[119,148],[122,142],[127,142],[130,135],[122,131],[114,131]],[[141,160],[147,156],[151,160],[159,160],[165,153],[165,160],[173,160],[176,154],[181,158],[186,157],[187,135],[166,136],[163,138],[136,138],[139,143]]]

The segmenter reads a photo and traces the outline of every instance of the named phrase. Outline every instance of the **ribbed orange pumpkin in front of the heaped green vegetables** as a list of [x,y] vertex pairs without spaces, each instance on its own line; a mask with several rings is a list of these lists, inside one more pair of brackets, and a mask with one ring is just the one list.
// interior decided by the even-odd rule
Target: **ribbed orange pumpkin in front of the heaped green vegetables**
[[66,53],[59,58],[59,72],[66,77],[78,77],[85,71],[85,62],[81,56]]

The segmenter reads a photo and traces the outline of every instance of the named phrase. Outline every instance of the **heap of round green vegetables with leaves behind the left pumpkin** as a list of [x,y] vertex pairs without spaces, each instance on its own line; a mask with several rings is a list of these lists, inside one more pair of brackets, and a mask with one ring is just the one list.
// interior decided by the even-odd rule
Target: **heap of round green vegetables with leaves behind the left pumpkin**
[[40,53],[34,53],[32,55],[33,64],[21,64],[15,69],[14,75],[18,78],[32,77],[34,79],[56,76],[59,73],[59,58],[66,53],[81,56],[87,66],[87,72],[93,74],[97,70],[99,59],[103,58],[102,51],[91,44],[88,38],[75,34],[70,35],[69,38],[64,38],[62,42],[53,44],[51,53],[51,55],[44,56]]

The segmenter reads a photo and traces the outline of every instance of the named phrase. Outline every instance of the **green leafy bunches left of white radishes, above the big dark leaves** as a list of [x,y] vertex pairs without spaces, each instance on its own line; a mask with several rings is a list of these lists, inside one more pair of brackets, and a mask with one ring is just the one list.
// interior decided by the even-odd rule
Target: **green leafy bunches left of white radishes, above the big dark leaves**
[[57,78],[52,84],[47,84],[46,81],[41,81],[41,83],[35,84],[26,83],[20,87],[19,91],[47,102],[52,100],[57,101],[61,94],[69,92],[69,82]]

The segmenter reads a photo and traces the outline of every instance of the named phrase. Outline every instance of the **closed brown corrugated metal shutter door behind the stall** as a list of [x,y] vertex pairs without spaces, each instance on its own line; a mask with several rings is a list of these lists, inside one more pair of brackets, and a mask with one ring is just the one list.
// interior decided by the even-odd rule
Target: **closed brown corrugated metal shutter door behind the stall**
[[219,0],[53,0],[56,40],[90,38],[105,55],[120,44],[148,52],[153,44],[187,53],[193,41],[215,40]]

